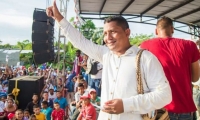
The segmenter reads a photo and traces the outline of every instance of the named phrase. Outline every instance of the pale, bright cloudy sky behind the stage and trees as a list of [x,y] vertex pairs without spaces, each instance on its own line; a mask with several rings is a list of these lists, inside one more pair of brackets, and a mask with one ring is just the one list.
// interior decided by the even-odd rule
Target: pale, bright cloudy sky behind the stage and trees
[[[59,5],[57,0],[57,5]],[[51,4],[51,0],[50,0]],[[1,0],[0,2],[0,40],[3,44],[16,44],[17,41],[31,41],[33,11],[35,8],[46,9],[46,0]],[[69,0],[67,19],[75,17],[74,0]],[[102,27],[103,21],[95,20],[96,27]],[[154,33],[155,26],[130,23],[132,34]],[[187,27],[184,29],[188,29]],[[56,30],[57,32],[58,30]],[[190,35],[175,31],[175,37],[190,39]]]

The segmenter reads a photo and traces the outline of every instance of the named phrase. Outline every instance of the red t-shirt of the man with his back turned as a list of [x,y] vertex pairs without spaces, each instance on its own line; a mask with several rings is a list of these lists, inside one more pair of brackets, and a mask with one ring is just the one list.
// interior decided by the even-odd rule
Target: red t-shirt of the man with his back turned
[[191,64],[199,59],[196,44],[178,38],[154,38],[143,42],[140,47],[158,58],[169,80],[172,102],[165,108],[174,113],[196,111],[191,85]]

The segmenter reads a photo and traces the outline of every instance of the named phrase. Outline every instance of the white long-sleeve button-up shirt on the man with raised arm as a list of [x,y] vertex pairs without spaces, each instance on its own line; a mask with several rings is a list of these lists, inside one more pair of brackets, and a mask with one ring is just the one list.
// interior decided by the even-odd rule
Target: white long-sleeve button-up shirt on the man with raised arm
[[[117,56],[105,46],[87,40],[66,19],[59,22],[64,35],[89,57],[103,64],[101,106],[108,100],[122,99],[124,113],[108,114],[103,111],[99,120],[142,120],[141,114],[164,107],[172,100],[171,89],[158,59],[148,51],[141,57],[144,95],[137,93],[136,54],[132,46]],[[147,82],[147,85],[144,82]]]

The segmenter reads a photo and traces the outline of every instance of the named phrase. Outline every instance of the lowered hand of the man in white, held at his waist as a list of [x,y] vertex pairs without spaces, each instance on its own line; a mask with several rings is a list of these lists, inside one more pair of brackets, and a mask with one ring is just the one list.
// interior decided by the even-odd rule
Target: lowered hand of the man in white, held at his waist
[[120,114],[124,112],[122,99],[109,100],[103,107],[103,111],[110,114]]

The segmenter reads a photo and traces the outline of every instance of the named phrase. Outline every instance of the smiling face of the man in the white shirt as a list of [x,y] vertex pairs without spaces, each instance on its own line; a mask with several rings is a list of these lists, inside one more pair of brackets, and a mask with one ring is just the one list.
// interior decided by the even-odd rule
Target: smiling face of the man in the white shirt
[[104,42],[116,54],[123,54],[130,47],[130,29],[123,29],[115,21],[104,24]]

